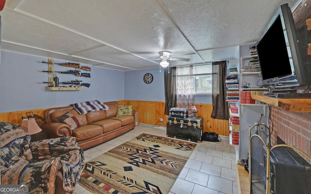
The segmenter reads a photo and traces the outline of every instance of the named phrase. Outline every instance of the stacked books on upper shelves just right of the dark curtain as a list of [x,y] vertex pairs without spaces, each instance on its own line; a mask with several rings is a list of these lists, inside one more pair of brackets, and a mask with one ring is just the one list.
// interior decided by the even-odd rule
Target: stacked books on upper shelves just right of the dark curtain
[[226,76],[227,101],[239,100],[239,76],[237,68],[230,68],[229,75]]

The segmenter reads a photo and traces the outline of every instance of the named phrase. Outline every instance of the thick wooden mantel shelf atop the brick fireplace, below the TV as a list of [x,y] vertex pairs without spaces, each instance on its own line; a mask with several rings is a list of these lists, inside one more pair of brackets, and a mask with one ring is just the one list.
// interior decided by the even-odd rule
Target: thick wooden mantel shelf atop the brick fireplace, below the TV
[[289,112],[311,113],[311,98],[276,98],[259,95],[251,97]]

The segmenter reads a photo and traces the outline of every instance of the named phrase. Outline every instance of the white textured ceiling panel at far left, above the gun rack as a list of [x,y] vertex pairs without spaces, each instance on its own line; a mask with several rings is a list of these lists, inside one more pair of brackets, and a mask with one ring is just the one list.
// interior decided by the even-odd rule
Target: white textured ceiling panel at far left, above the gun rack
[[[43,50],[57,50],[58,53],[69,54],[80,49],[98,46],[100,43],[93,41],[75,32],[54,26],[50,23],[36,19],[10,9],[3,10],[2,32],[6,41],[16,42],[21,45]],[[2,13],[1,13],[2,14]],[[2,15],[1,15],[2,16]],[[31,22],[29,22],[31,21]],[[7,31],[6,29],[10,29]]]

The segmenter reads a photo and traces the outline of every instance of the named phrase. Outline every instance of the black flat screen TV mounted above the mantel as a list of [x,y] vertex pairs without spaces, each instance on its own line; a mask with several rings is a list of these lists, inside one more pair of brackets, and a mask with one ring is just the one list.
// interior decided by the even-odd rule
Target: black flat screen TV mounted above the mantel
[[288,4],[281,5],[256,43],[265,87],[306,84],[302,51]]

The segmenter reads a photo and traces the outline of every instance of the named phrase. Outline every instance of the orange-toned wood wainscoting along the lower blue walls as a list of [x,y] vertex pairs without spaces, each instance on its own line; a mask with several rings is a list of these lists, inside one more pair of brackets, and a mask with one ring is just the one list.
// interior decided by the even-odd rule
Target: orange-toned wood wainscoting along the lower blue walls
[[[157,126],[163,125],[166,127],[166,117],[168,115],[164,114],[165,102],[139,100],[120,100],[117,102],[120,105],[132,105],[132,109],[138,112],[139,123]],[[197,116],[203,117],[203,132],[213,131],[219,135],[229,136],[229,121],[213,119],[210,117],[212,112],[212,104],[194,105],[199,109]],[[44,117],[44,112],[47,109],[48,108],[0,113],[0,122],[9,122],[15,125],[20,125],[21,117],[24,116],[27,118],[26,113],[33,112],[34,114]],[[163,118],[162,124],[160,123],[159,118]],[[40,121],[37,120],[37,122],[40,126]]]

